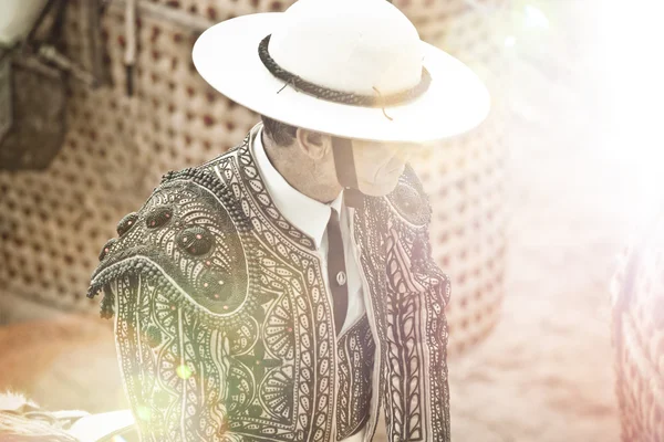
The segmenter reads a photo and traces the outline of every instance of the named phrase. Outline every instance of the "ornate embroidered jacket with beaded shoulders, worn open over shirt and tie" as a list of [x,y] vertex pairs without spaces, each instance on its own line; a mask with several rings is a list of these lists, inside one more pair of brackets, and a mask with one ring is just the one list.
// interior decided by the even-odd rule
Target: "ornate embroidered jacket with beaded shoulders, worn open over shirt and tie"
[[449,441],[449,282],[412,169],[352,232],[366,313],[335,336],[314,241],[239,146],[168,172],[92,275],[143,441]]

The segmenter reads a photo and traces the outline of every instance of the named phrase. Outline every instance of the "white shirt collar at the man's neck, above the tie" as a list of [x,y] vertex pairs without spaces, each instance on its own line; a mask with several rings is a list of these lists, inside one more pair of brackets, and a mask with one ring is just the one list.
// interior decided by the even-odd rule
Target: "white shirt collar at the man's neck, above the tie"
[[268,158],[262,144],[262,129],[263,126],[261,125],[253,137],[251,150],[266,188],[281,214],[295,228],[311,236],[315,241],[317,249],[319,249],[330,220],[330,208],[334,208],[341,214],[343,191],[339,193],[334,201],[325,204],[294,189],[274,169]]

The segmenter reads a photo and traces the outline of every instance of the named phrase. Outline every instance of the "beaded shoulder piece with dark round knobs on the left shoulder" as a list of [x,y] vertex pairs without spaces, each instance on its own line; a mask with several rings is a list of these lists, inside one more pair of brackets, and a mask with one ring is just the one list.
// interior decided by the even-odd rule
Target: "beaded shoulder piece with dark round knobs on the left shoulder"
[[231,315],[245,301],[247,260],[240,234],[249,223],[211,170],[166,173],[139,211],[117,224],[100,253],[87,292],[104,290],[102,317],[113,316],[111,283],[127,277],[185,309]]

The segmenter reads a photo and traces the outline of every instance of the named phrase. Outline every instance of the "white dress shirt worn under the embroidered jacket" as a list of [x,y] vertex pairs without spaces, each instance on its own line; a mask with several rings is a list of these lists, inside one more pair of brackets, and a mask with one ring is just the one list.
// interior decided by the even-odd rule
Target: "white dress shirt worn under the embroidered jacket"
[[[329,204],[317,201],[295,190],[286,179],[279,173],[274,166],[270,162],[262,144],[263,127],[258,130],[251,146],[251,151],[260,176],[267,187],[274,206],[281,214],[295,228],[307,233],[315,241],[317,250],[320,254],[323,264],[323,277],[328,280],[328,221],[330,220],[331,210],[336,210],[340,213],[339,224],[341,236],[343,239],[344,259],[346,265],[346,283],[349,290],[347,313],[342,333],[352,327],[364,314],[364,301],[362,292],[362,281],[360,278],[360,269],[355,260],[353,242],[351,241],[350,219],[353,214],[353,209],[343,204],[343,191],[334,201]],[[359,442],[364,438],[364,428],[344,439],[342,442]]]

